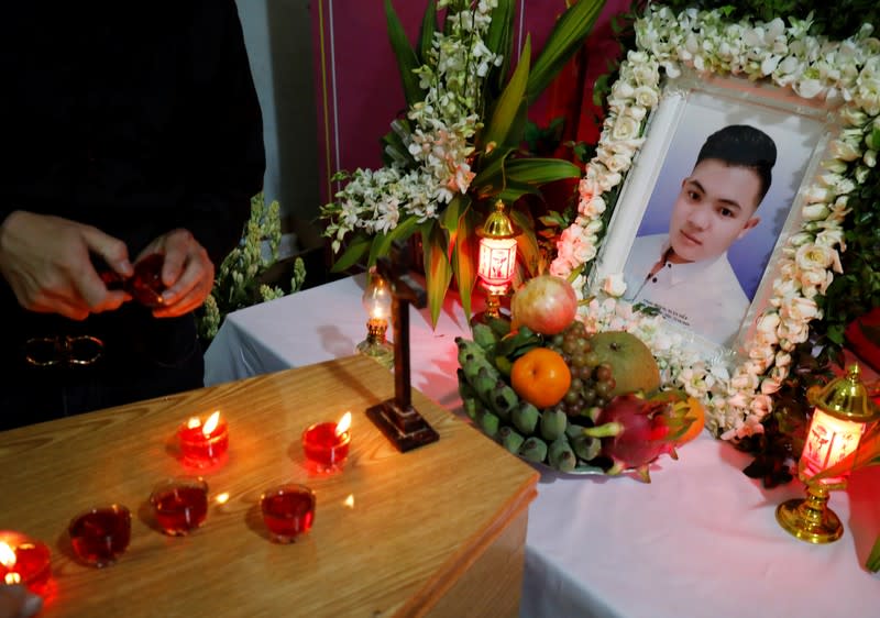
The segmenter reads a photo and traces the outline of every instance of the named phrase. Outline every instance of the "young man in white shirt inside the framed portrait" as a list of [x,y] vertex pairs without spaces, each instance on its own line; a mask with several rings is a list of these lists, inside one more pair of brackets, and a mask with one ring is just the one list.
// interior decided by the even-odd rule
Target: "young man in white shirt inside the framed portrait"
[[727,250],[759,223],[756,210],[776,161],[776,144],[754,126],[734,124],[710,135],[682,180],[669,232],[632,244],[624,298],[729,346],[750,300]]

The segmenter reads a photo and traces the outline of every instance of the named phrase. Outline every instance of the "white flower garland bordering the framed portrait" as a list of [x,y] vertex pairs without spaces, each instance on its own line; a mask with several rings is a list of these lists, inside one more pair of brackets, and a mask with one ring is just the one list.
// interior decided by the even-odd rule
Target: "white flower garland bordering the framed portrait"
[[[550,272],[573,277],[586,291],[586,265],[604,236],[603,196],[624,179],[641,147],[650,110],[661,95],[661,68],[674,78],[682,67],[700,73],[746,76],[791,88],[799,97],[839,103],[844,129],[831,144],[832,157],[803,190],[803,225],[785,243],[780,277],[773,282],[768,308],[757,318],[748,342],[748,360],[733,374],[718,360],[689,351],[681,334],[615,297],[624,291],[619,276],[603,282],[603,298],[582,308],[592,331],[628,330],[653,351],[664,384],[683,387],[706,406],[706,426],[724,440],[763,431],[770,395],[788,376],[791,352],[806,341],[809,323],[822,318],[815,297],[824,295],[834,273],[840,273],[838,251],[845,251],[842,224],[847,199],[877,163],[880,148],[880,40],[866,24],[842,42],[807,34],[811,21],[725,21],[718,10],[689,9],[681,14],[651,5],[636,23],[636,49],[620,65],[608,98],[608,115],[595,157],[580,184],[579,217],[558,242]],[[576,275],[576,276],[574,276]]]

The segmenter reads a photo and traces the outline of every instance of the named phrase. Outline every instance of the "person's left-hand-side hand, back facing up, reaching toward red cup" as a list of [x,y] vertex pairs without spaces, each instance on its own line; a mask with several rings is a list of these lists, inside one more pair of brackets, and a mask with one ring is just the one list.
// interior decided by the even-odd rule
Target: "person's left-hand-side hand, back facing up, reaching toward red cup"
[[133,273],[125,243],[91,225],[24,210],[0,225],[0,273],[30,311],[85,320],[128,300],[124,291],[107,289],[92,253],[124,277]]

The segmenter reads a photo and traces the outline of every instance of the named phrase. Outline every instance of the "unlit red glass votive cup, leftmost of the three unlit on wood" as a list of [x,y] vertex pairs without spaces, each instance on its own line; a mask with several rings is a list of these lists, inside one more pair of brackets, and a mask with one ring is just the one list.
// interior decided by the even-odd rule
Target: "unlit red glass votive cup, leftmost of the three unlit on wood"
[[100,569],[129,549],[131,511],[122,505],[91,508],[72,519],[67,532],[77,558]]

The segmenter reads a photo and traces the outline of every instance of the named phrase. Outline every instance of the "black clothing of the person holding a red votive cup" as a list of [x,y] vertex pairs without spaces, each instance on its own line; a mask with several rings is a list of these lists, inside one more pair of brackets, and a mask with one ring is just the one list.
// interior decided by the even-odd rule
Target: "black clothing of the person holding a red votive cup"
[[[26,210],[91,224],[123,240],[131,260],[185,228],[216,266],[241,238],[265,155],[233,0],[13,2],[0,20],[0,220]],[[0,308],[4,391],[112,380],[144,398],[179,390],[156,375],[152,393],[152,372],[187,363],[185,387],[201,385],[191,316],[155,319],[127,302],[76,322],[24,311],[2,279]],[[77,333],[105,341],[102,368],[24,363],[29,339]],[[62,411],[48,404],[44,413]],[[42,420],[21,416],[0,410],[0,429]]]

